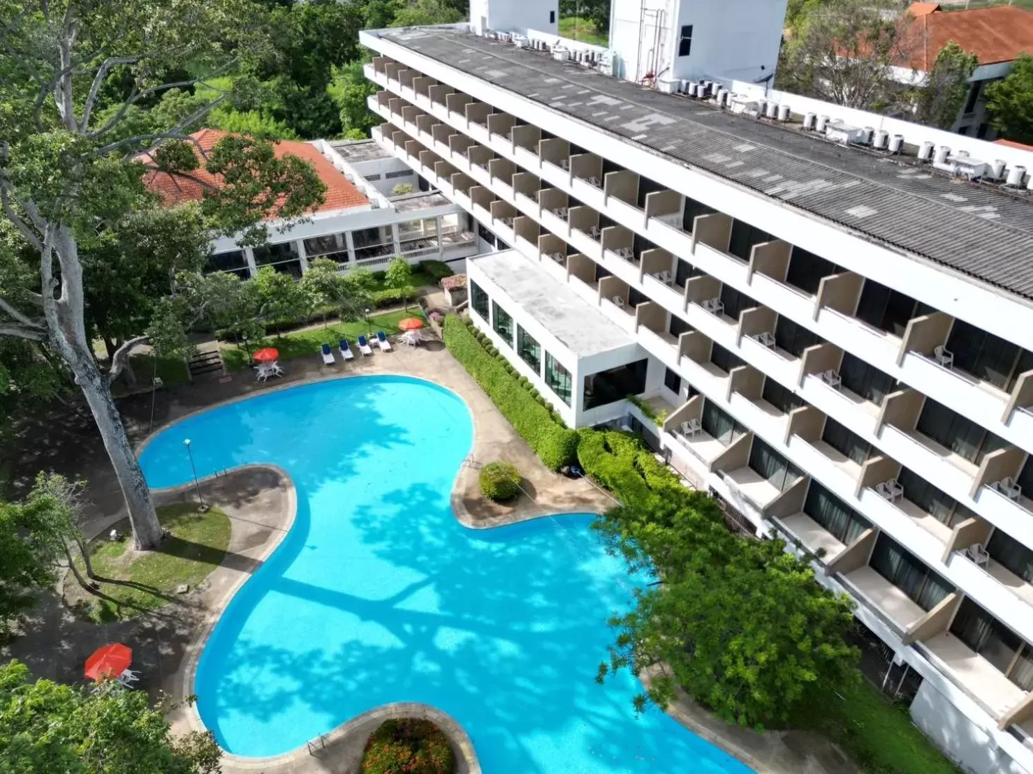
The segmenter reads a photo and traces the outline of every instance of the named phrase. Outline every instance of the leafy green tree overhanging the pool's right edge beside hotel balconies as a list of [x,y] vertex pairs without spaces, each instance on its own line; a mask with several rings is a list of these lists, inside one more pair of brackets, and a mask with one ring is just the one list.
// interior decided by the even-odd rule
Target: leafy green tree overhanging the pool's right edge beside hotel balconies
[[803,703],[856,679],[844,635],[851,603],[814,580],[782,541],[735,537],[708,495],[667,491],[607,513],[609,547],[658,582],[614,618],[599,679],[652,674],[637,708],[665,707],[676,688],[742,725],[785,724]]

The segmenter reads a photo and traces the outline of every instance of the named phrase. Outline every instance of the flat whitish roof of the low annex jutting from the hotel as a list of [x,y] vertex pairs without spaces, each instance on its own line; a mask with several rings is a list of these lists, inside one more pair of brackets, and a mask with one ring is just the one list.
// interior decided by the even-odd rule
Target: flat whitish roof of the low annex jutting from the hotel
[[613,320],[515,250],[468,258],[499,290],[580,357],[634,344]]

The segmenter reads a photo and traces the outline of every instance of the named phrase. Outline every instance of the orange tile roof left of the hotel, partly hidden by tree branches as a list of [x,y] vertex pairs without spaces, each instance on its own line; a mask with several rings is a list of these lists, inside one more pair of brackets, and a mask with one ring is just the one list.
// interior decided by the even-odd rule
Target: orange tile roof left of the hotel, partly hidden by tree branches
[[[228,132],[218,129],[201,129],[194,132],[190,135],[195,140],[194,152],[199,155],[200,151],[205,153],[211,151],[227,134]],[[338,171],[325,156],[319,153],[315,146],[296,140],[280,140],[275,144],[275,150],[277,158],[289,155],[308,161],[315,168],[319,180],[326,186],[325,200],[312,212],[343,209],[369,202],[369,199],[363,196],[358,189],[349,183],[347,178]],[[147,187],[157,193],[165,204],[198,200],[205,195],[207,188],[218,187],[220,184],[216,175],[209,173],[204,168],[191,172],[190,178],[152,171],[148,172],[144,181]]]

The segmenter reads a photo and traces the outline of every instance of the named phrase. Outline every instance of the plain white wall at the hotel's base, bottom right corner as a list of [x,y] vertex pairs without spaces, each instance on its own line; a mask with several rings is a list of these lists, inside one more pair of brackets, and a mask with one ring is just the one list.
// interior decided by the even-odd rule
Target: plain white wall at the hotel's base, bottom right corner
[[928,680],[911,704],[911,719],[965,771],[1031,774],[945,699]]

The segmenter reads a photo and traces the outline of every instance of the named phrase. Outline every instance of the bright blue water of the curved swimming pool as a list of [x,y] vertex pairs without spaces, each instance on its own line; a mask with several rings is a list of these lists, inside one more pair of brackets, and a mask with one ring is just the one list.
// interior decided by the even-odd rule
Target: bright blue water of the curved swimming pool
[[630,675],[595,682],[627,610],[627,575],[590,516],[463,527],[449,493],[469,452],[465,404],[402,377],[262,394],[161,432],[152,487],[251,462],[287,471],[298,516],[230,602],[194,692],[228,751],[274,755],[389,702],[469,733],[486,774],[747,774],[656,709]]

